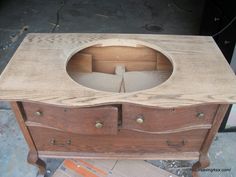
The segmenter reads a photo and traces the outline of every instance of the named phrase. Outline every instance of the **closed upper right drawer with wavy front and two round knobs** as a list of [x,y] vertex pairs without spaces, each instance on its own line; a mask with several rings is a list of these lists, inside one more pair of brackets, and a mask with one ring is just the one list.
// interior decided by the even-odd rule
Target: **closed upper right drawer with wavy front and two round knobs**
[[218,105],[201,105],[160,109],[124,104],[122,128],[159,133],[210,128],[217,108]]

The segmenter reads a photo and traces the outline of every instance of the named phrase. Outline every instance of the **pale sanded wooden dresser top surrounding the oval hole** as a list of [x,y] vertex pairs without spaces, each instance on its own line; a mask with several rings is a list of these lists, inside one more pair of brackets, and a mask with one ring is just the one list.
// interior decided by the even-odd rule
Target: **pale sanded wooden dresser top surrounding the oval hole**
[[[154,88],[111,93],[86,88],[66,71],[68,59],[91,45],[144,45],[166,55],[170,78]],[[28,34],[0,77],[0,99],[58,106],[136,103],[179,107],[235,103],[236,78],[211,37],[138,34]]]

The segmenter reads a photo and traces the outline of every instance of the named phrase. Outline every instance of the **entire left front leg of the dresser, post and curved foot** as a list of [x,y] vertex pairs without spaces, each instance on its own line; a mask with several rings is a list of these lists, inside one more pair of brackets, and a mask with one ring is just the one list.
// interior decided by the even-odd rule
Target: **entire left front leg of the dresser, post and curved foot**
[[38,153],[37,153],[37,149],[35,147],[35,144],[32,140],[32,137],[30,135],[30,132],[27,128],[27,126],[25,125],[25,120],[26,118],[24,117],[24,113],[23,113],[23,109],[21,107],[21,103],[18,102],[11,102],[11,107],[12,110],[15,113],[16,116],[16,120],[20,126],[20,129],[24,135],[24,138],[28,144],[28,147],[30,149],[29,153],[28,153],[28,163],[32,164],[32,165],[36,165],[39,169],[39,173],[41,175],[44,175],[46,172],[46,164],[44,161],[42,161],[39,157],[38,157]]

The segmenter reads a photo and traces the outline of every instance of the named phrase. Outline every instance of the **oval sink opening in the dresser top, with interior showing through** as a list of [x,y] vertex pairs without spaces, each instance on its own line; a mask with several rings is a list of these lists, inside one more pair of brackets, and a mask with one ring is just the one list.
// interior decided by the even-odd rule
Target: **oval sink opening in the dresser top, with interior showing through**
[[156,87],[173,72],[170,60],[144,45],[93,45],[75,53],[66,66],[80,85],[108,92],[133,92]]

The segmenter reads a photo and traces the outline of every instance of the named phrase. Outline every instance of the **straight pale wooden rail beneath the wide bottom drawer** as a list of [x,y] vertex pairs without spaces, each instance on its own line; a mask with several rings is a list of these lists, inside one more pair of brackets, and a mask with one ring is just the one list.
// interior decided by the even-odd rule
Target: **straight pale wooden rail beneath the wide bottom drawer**
[[55,152],[38,151],[42,158],[70,158],[70,159],[136,159],[136,160],[198,160],[199,152],[177,153],[83,153],[83,152]]

